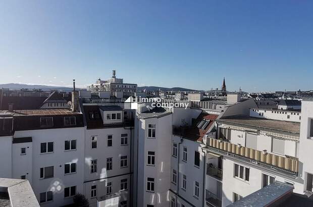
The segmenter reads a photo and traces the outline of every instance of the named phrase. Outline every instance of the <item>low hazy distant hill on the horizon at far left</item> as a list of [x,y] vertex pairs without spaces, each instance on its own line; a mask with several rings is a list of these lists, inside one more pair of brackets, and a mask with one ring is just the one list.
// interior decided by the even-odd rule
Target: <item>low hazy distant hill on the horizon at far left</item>
[[[27,85],[27,84],[18,84],[18,83],[7,83],[7,84],[0,84],[0,88],[9,88],[9,89],[15,89],[20,90],[22,88],[27,89],[42,89],[43,91],[49,91],[49,90],[62,90],[62,91],[72,91],[73,88],[69,87],[63,87],[63,86],[48,86],[48,85]],[[77,88],[80,89],[80,88]]]

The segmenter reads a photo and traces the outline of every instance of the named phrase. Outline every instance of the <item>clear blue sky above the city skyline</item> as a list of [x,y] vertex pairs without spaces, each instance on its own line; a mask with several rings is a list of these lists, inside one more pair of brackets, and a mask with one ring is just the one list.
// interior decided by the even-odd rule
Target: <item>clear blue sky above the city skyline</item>
[[0,1],[0,83],[313,89],[313,1]]

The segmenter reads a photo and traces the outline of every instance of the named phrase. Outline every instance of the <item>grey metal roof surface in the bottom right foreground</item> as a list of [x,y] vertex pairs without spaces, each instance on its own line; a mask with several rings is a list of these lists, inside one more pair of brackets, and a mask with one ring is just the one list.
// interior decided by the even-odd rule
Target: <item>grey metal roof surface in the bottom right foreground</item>
[[244,198],[228,205],[228,207],[263,207],[267,206],[270,203],[281,198],[288,192],[292,192],[293,186],[282,183],[282,182],[275,182],[272,183],[250,195],[247,195]]

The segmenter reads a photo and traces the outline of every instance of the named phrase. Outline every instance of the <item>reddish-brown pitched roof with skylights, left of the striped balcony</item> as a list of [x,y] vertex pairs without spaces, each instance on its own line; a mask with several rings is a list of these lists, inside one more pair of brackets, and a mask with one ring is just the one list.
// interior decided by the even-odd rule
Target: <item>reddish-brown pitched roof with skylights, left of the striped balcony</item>
[[[173,133],[194,141],[202,142],[203,136],[214,125],[214,121],[218,118],[216,114],[207,114],[202,112],[190,127],[177,127],[173,129]],[[203,122],[203,121],[208,121]],[[202,123],[201,123],[202,122]],[[200,126],[201,125],[201,126]]]

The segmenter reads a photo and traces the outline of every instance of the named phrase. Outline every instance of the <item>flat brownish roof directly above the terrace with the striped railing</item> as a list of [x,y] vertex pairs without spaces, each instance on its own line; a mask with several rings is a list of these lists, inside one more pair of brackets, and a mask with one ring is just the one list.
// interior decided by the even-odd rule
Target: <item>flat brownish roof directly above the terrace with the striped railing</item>
[[246,127],[263,128],[269,130],[276,130],[282,132],[288,132],[293,134],[300,134],[300,123],[286,122],[271,119],[262,119],[247,116],[233,116],[225,117],[217,120],[218,122],[243,125]]

